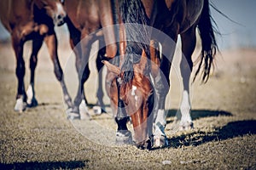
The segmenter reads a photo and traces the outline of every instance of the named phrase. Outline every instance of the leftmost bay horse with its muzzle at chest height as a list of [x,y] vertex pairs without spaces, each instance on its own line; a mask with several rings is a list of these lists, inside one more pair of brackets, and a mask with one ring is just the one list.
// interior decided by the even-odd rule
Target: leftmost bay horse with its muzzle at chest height
[[[57,54],[57,38],[54,26],[64,24],[66,12],[59,0],[3,0],[0,1],[0,18],[3,26],[10,32],[12,46],[16,57],[16,77],[18,92],[15,111],[24,111],[26,106],[38,105],[34,94],[34,73],[38,61],[38,51],[43,42],[49,49],[50,58],[54,64],[55,77],[61,82],[63,96],[68,107],[72,107],[72,100],[67,93],[63,72]],[[24,76],[25,62],[23,46],[32,40],[32,54],[30,58],[31,80],[25,92]]]

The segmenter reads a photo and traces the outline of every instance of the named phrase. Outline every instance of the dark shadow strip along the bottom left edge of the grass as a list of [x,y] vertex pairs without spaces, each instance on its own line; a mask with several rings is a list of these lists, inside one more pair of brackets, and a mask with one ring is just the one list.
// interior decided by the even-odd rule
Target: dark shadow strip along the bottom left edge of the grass
[[0,169],[74,169],[86,167],[86,161],[46,161],[0,163]]

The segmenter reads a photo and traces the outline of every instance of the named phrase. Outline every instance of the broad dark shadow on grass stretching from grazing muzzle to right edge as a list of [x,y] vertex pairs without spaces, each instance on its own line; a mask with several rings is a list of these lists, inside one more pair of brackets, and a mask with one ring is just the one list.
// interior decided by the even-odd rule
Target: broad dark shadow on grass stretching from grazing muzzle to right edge
[[256,134],[255,120],[229,122],[226,126],[216,128],[211,133],[195,132],[183,134],[168,140],[169,144],[171,144],[170,147],[179,148],[181,146],[197,146],[211,141],[233,139],[250,134]]

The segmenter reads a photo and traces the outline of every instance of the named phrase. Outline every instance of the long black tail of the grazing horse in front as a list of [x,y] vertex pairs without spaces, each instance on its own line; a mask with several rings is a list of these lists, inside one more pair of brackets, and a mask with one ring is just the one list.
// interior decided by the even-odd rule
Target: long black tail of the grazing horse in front
[[[195,72],[195,77],[196,77],[199,71],[201,70],[202,63],[204,62],[204,68],[202,72],[202,82],[208,81],[210,71],[213,65],[213,59],[218,50],[218,45],[214,36],[215,29],[212,26],[212,22],[215,23],[215,21],[212,19],[210,14],[209,2],[208,0],[205,0],[202,13],[201,13],[201,19],[199,20],[199,23],[198,23],[198,29],[200,31],[201,45],[202,45],[201,61],[197,71]],[[193,79],[193,82],[195,81],[195,77]]]

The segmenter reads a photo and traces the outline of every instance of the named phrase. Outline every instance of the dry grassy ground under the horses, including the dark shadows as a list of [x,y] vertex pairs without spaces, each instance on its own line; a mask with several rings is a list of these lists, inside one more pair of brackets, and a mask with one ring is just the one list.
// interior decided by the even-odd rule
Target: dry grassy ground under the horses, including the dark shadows
[[[63,32],[62,32],[63,33]],[[72,51],[67,34],[58,36],[61,65],[67,88],[76,92]],[[26,87],[29,82],[31,44],[26,43]],[[207,84],[191,85],[195,129],[176,132],[173,120],[181,99],[177,71],[166,101],[166,134],[170,147],[138,150],[114,144],[111,113],[91,121],[67,120],[61,85],[45,46],[38,57],[35,90],[38,107],[14,111],[17,80],[15,55],[9,42],[0,44],[0,169],[256,169],[256,49],[222,50]],[[69,60],[71,59],[71,60]],[[90,80],[85,84],[91,104],[96,103],[96,71],[90,61]],[[104,96],[109,104],[109,99]],[[96,125],[96,126],[95,126]],[[95,134],[95,135],[92,135]],[[113,138],[112,138],[113,137]]]

